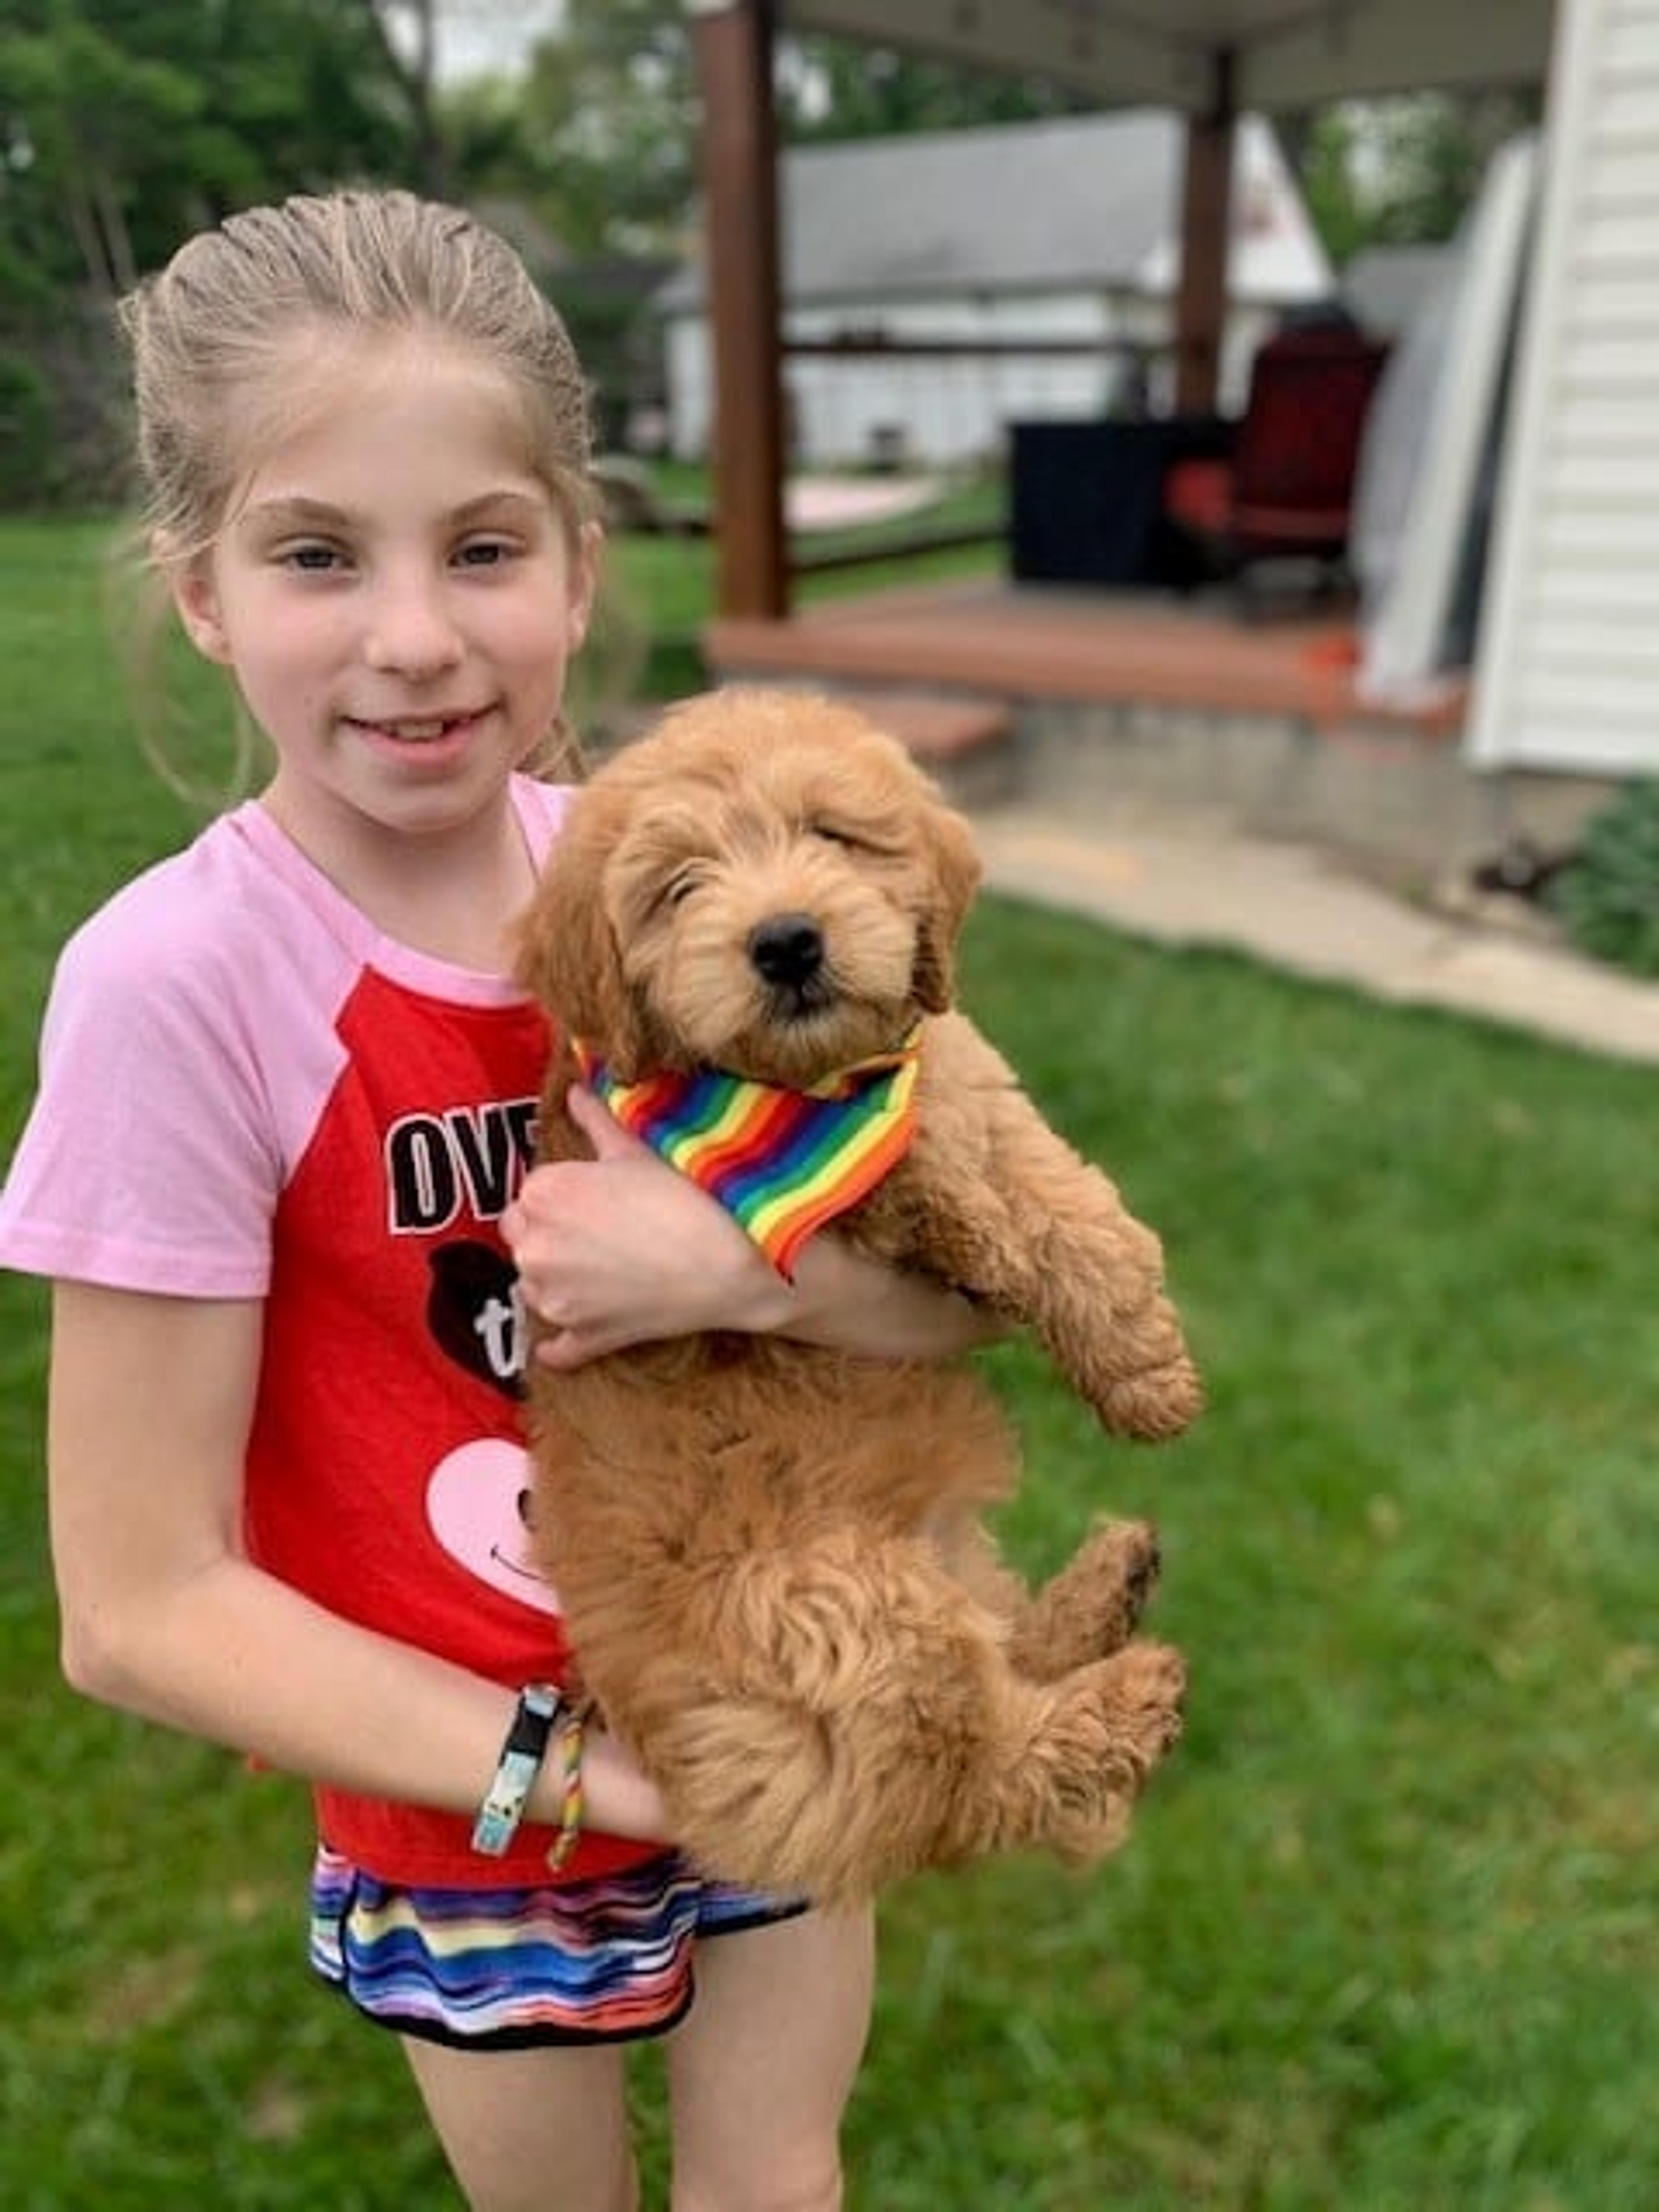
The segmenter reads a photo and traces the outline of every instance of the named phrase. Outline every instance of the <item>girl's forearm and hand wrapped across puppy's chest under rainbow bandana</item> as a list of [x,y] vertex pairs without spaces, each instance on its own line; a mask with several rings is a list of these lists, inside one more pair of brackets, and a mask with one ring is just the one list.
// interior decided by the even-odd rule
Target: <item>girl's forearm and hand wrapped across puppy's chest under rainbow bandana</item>
[[812,1237],[785,1283],[732,1217],[619,1128],[588,1093],[571,1117],[591,1161],[535,1168],[502,1217],[551,1367],[661,1336],[743,1329],[883,1358],[936,1360],[998,1327],[967,1298]]

